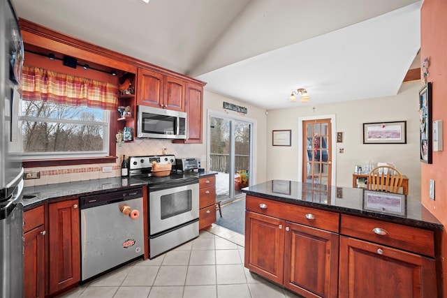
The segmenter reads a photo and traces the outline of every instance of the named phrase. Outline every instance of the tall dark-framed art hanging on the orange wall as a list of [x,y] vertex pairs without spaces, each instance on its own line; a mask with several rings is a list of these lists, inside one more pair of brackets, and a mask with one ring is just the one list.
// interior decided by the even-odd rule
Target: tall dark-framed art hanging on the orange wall
[[419,91],[420,161],[432,163],[432,83]]

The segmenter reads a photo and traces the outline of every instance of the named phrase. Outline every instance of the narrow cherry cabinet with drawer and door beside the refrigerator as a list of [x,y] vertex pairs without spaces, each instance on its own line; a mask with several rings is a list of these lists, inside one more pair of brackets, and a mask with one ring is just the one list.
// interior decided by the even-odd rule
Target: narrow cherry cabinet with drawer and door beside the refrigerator
[[44,207],[24,212],[24,298],[45,297]]

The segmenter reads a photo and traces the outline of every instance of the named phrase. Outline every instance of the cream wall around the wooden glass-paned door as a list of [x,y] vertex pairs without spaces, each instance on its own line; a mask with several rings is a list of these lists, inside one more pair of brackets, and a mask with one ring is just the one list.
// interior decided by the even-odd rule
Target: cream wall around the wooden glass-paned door
[[[298,180],[298,117],[335,114],[336,129],[343,132],[337,143],[337,186],[352,186],[354,165],[371,160],[394,163],[409,177],[409,191],[420,193],[419,113],[420,82],[403,84],[396,96],[349,100],[326,105],[296,105],[288,109],[268,111],[267,179]],[[349,94],[349,91],[346,91]],[[287,100],[287,99],[285,99]],[[315,110],[312,109],[315,107]],[[362,124],[381,121],[406,121],[406,144],[363,144]],[[291,147],[272,147],[272,130],[291,129]],[[344,154],[339,153],[344,148]]]

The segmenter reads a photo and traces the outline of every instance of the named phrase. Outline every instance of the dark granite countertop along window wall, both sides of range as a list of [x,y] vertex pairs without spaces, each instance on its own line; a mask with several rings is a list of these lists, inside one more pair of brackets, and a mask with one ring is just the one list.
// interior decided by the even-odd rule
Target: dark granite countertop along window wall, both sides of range
[[[187,172],[185,174],[196,175],[200,178],[215,175],[217,172]],[[112,177],[59,184],[46,184],[41,186],[29,186],[24,188],[24,198],[22,199],[22,204],[24,206],[24,210],[27,210],[47,200],[71,196],[93,195],[96,193],[118,191],[121,189],[141,186],[147,186],[147,181],[140,177],[129,177],[126,183],[123,183],[121,177]]]

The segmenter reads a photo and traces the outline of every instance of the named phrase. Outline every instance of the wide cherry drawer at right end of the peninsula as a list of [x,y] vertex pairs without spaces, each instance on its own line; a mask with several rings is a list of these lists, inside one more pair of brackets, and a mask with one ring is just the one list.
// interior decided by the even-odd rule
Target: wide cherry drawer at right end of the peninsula
[[434,257],[434,232],[342,214],[340,234]]

